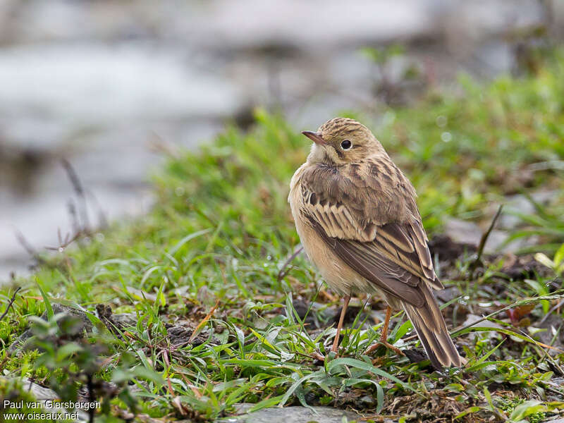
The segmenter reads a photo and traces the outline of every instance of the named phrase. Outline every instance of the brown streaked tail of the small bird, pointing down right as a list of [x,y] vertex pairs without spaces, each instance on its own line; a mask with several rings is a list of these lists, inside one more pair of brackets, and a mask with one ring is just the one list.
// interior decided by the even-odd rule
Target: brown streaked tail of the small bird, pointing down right
[[[423,285],[423,283],[421,284]],[[403,302],[403,309],[410,318],[425,352],[436,369],[462,367],[466,360],[460,357],[446,329],[445,319],[435,296],[428,286],[422,286],[425,295],[423,307],[414,307]]]

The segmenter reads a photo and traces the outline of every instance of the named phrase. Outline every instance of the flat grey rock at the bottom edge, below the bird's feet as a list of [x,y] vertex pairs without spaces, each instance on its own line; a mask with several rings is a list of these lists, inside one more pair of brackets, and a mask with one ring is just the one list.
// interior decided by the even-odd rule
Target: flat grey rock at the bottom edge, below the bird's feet
[[343,417],[348,421],[360,419],[355,412],[331,407],[273,407],[247,415],[225,417],[217,423],[342,423]]

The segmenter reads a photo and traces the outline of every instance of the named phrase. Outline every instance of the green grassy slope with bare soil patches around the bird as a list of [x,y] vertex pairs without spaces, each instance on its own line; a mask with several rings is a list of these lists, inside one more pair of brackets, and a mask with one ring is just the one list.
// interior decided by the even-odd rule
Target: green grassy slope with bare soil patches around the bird
[[[556,52],[538,75],[486,85],[460,78],[456,95],[429,92],[379,116],[343,113],[368,123],[410,177],[431,235],[449,216],[486,223],[505,195],[560,190],[515,235],[540,235],[529,249],[548,259],[564,242],[563,66]],[[1,313],[23,286],[0,321],[4,376],[30,377],[68,400],[82,387],[102,401],[97,421],[106,422],[130,413],[209,421],[237,403],[438,422],[539,422],[563,410],[561,320],[543,326],[547,313],[562,317],[562,280],[548,268],[507,276],[511,257],[487,257],[478,272],[468,270],[472,255],[437,263],[455,294],[444,308],[449,327],[489,316],[455,332],[466,369],[434,372],[385,350],[362,355],[384,309],[364,297],[353,300],[339,357],[315,362],[312,353],[329,350],[339,302],[305,257],[289,262],[299,239],[288,182],[308,145],[280,116],[257,110],[255,118],[248,133],[228,127],[197,153],[170,154],[147,216],[44,255],[31,278],[0,288]],[[561,251],[548,260],[560,263]],[[56,304],[86,312],[94,331],[78,336]],[[131,322],[101,317],[101,304]],[[29,326],[30,349],[11,353]],[[417,347],[410,329],[398,314],[390,341]],[[18,381],[0,379],[0,397],[26,395]]]

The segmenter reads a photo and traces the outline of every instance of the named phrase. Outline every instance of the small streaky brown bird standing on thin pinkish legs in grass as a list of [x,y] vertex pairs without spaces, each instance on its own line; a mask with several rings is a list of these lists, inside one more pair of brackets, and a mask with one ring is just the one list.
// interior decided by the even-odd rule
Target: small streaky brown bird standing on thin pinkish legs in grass
[[290,180],[288,202],[300,241],[324,281],[343,297],[331,351],[338,342],[351,295],[387,302],[378,345],[387,343],[393,309],[403,309],[436,369],[462,367],[433,290],[436,276],[417,194],[381,143],[362,123],[333,118],[317,131],[305,161]]

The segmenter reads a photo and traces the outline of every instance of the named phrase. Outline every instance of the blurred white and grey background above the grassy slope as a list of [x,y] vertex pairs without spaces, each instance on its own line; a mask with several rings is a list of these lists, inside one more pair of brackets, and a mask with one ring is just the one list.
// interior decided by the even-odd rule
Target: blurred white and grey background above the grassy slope
[[257,106],[297,130],[378,118],[461,72],[527,71],[563,24],[558,0],[2,0],[0,280],[80,216],[147,212],[161,152]]

